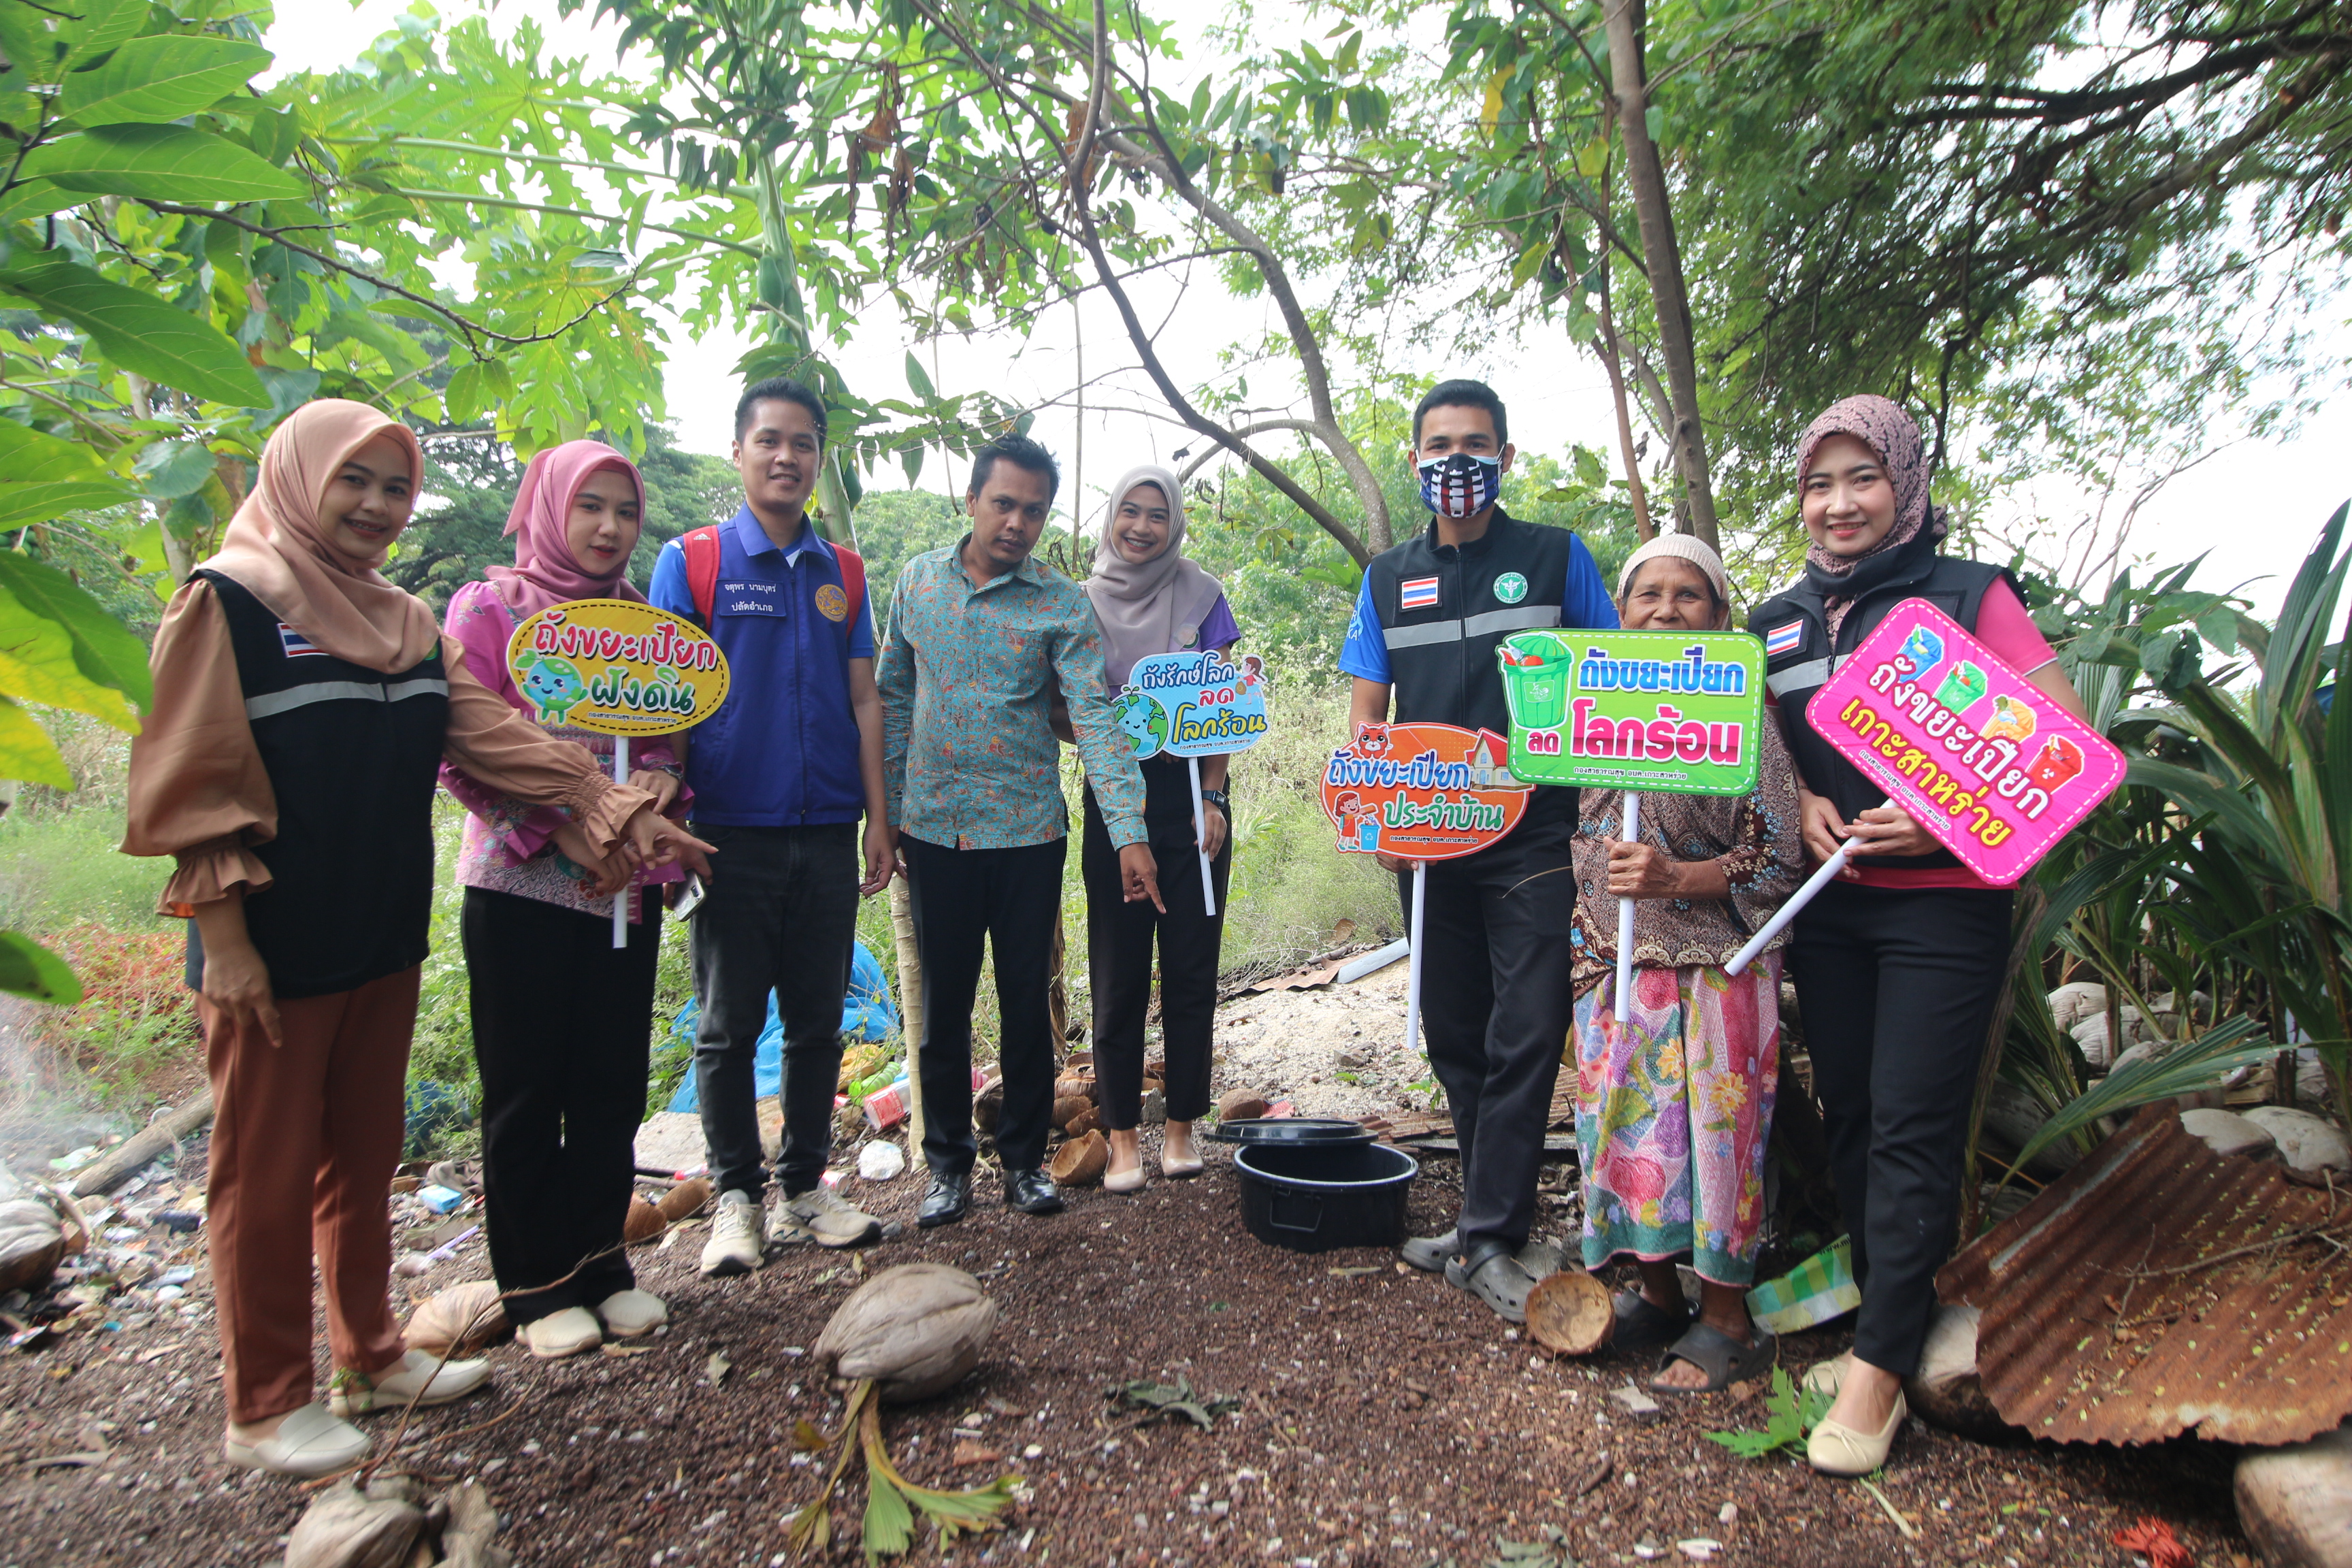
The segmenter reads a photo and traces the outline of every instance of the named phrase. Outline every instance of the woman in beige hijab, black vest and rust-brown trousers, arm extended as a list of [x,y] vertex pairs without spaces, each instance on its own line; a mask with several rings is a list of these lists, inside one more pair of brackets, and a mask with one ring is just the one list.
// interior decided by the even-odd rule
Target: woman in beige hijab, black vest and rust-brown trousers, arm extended
[[[346,1469],[343,1415],[440,1403],[482,1361],[407,1349],[388,1300],[383,1194],[402,1145],[409,1034],[433,914],[433,785],[447,757],[564,806],[583,849],[647,865],[703,844],[576,745],[487,691],[421,599],[379,567],[423,454],[358,402],[296,409],[219,555],[155,635],[132,745],[134,856],[176,856],[162,912],[191,919],[214,1126],[209,1253],[230,1465]],[[310,1265],[327,1291],[332,1408],[310,1401]]]

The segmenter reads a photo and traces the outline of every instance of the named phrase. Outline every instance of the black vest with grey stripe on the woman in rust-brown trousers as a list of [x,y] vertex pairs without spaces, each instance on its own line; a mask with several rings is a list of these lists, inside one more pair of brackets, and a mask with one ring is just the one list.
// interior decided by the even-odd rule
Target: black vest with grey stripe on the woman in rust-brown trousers
[[[433,922],[433,790],[449,729],[440,649],[383,675],[310,646],[219,571],[245,719],[278,795],[278,837],[252,853],[270,886],[245,929],[278,997],[327,997],[421,964]],[[188,983],[205,950],[188,922]]]

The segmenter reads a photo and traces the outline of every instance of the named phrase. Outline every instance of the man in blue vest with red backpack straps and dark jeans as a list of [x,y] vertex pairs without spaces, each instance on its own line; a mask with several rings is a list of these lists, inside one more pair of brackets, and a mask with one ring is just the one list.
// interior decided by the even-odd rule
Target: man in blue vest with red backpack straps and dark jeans
[[[727,701],[687,736],[696,835],[715,863],[687,947],[701,1004],[694,1086],[720,1190],[706,1276],[757,1269],[762,1234],[821,1246],[882,1234],[823,1185],[858,896],[877,893],[894,865],[866,571],[807,520],[823,449],[816,393],[783,376],[748,386],[734,442],[743,508],[663,545],[647,595],[703,625],[727,656]],[[781,1201],[762,1225],[753,1053],[771,990],[783,1147]]]

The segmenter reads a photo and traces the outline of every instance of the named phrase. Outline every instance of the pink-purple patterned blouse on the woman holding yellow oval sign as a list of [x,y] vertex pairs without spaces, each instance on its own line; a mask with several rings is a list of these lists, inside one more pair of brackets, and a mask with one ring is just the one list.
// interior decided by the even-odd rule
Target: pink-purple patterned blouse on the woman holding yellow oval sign
[[[517,712],[529,715],[532,703],[515,691],[515,677],[506,668],[506,644],[515,635],[515,611],[489,583],[466,583],[449,597],[449,614],[442,630],[466,649],[466,668],[473,677],[503,696]],[[586,748],[612,773],[612,736],[600,736],[572,724],[541,724],[550,736],[560,736]],[[630,766],[677,773],[677,752],[663,738],[637,741],[630,748]],[[456,879],[466,886],[494,893],[515,893],[539,903],[562,905],[581,914],[612,919],[612,898],[588,898],[581,893],[581,867],[555,849],[555,830],[569,820],[560,806],[534,806],[510,795],[468,778],[459,769],[442,764],[442,788],[466,806],[466,842],[456,858]],[[682,816],[691,792],[680,788],[670,816]],[[640,872],[647,882],[680,882],[684,870],[666,865],[656,872]],[[642,898],[633,898],[630,919],[644,919]]]

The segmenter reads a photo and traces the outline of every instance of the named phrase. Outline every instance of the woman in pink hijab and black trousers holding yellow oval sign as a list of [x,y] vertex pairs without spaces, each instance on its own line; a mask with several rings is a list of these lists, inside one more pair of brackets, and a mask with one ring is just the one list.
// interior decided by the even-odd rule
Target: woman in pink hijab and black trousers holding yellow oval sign
[[[628,581],[642,522],[644,482],[612,447],[564,442],[534,456],[506,520],[515,564],[492,567],[449,597],[445,625],[475,679],[517,712],[534,712],[515,689],[506,644],[550,604],[644,602]],[[612,736],[560,719],[541,726],[612,769]],[[633,759],[630,783],[668,809],[680,795],[670,743],[640,743]],[[499,1288],[520,1293],[506,1316],[534,1356],[595,1349],[604,1335],[649,1335],[668,1309],[635,1288],[621,1227],[644,1114],[661,900],[623,886],[630,867],[600,856],[560,806],[485,788],[449,762],[442,788],[470,813],[456,870],[482,1070],[489,1262]],[[628,947],[619,952],[614,898],[630,900]]]

